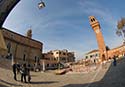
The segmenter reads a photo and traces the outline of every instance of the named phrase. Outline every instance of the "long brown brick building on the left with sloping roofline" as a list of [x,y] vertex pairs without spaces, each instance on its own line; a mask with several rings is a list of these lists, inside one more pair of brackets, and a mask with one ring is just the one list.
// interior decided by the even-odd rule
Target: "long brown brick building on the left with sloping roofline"
[[43,43],[32,39],[32,30],[23,36],[8,29],[2,29],[7,52],[1,52],[2,57],[12,59],[19,63],[34,65],[42,58]]

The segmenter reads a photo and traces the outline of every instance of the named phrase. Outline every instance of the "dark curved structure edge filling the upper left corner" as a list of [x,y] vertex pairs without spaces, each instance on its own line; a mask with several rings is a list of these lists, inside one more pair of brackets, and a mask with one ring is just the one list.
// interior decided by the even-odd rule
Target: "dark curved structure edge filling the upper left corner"
[[0,29],[7,16],[20,0],[0,0]]

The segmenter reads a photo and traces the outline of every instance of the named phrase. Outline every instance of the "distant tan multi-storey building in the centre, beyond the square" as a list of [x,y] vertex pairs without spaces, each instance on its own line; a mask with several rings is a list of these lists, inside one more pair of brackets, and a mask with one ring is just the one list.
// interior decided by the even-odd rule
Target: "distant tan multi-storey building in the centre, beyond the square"
[[52,50],[44,53],[43,58],[46,68],[57,68],[58,63],[75,62],[74,52],[68,52],[68,50]]

